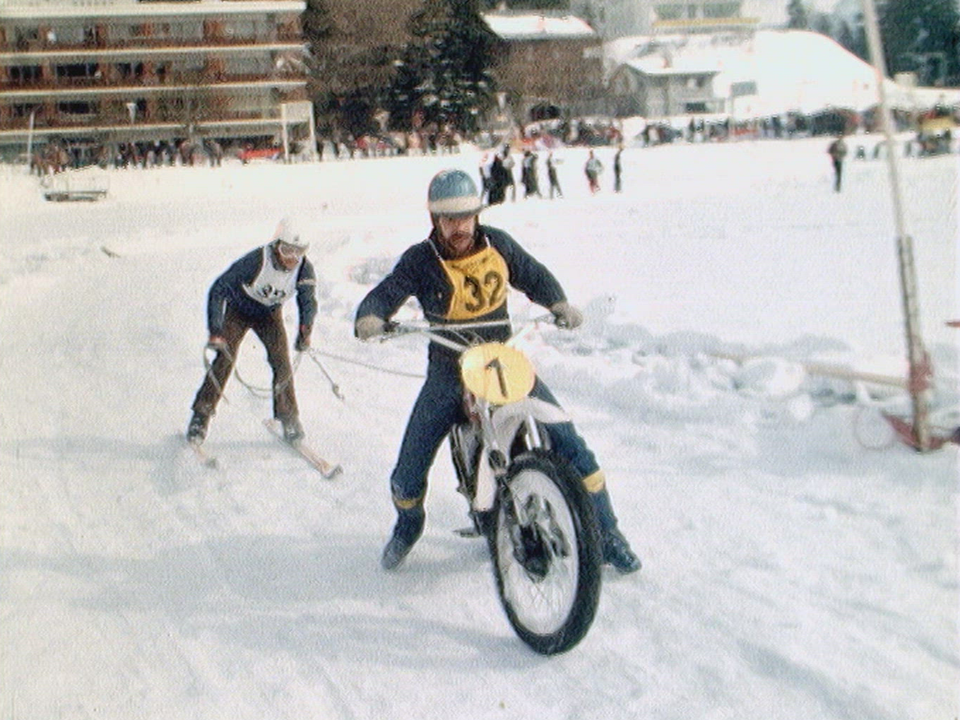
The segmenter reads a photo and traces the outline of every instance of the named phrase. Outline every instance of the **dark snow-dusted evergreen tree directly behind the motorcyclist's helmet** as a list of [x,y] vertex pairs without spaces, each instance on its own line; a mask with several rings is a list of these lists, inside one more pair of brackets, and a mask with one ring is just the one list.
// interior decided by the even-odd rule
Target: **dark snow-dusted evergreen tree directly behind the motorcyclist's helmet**
[[387,92],[391,124],[426,123],[475,131],[493,97],[494,37],[476,0],[425,0],[411,18],[407,46]]

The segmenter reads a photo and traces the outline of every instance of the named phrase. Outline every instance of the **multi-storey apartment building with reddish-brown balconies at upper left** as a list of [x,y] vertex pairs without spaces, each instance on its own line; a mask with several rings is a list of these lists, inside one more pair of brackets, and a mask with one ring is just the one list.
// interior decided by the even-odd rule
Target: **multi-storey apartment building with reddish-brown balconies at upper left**
[[277,137],[304,120],[301,0],[6,0],[0,150]]

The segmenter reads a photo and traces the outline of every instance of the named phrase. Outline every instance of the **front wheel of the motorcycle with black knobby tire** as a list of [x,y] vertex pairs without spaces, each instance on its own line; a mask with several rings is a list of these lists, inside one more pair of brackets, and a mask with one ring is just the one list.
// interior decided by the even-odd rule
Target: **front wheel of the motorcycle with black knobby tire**
[[568,466],[544,451],[510,465],[491,550],[497,591],[517,635],[555,655],[590,629],[600,599],[593,504]]

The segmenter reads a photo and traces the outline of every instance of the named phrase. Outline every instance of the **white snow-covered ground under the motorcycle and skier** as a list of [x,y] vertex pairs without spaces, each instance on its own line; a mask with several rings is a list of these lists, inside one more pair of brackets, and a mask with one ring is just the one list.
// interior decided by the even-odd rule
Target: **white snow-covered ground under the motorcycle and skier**
[[[0,718],[956,717],[957,449],[864,447],[883,428],[862,408],[902,393],[855,402],[797,364],[904,373],[886,166],[849,161],[837,194],[825,150],[628,149],[620,195],[600,151],[595,197],[567,150],[563,200],[484,214],[586,310],[528,349],[644,559],[605,575],[590,633],[554,658],[515,638],[482,545],[451,532],[466,508],[445,451],[423,539],[400,572],[378,564],[424,349],[358,343],[352,315],[426,232],[431,175],[478,154],[111,171],[82,204],[0,170]],[[901,171],[949,425],[957,161]],[[267,435],[269,401],[236,378],[207,441],[220,469],[181,439],[207,288],[287,213],[314,232],[315,345],[345,397],[304,359],[334,481]],[[268,383],[252,336],[239,370]]]

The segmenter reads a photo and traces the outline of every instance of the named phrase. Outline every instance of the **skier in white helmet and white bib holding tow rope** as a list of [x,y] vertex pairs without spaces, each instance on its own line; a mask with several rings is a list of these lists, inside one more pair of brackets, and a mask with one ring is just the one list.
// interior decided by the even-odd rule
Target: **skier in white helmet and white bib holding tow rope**
[[317,280],[306,258],[307,248],[297,228],[285,218],[268,244],[241,257],[210,287],[207,347],[217,355],[193,401],[193,417],[187,428],[190,442],[199,444],[206,437],[240,342],[251,329],[263,341],[273,370],[273,416],[283,425],[288,442],[303,438],[282,307],[296,295],[300,328],[294,348],[298,352],[306,350],[317,314]]

